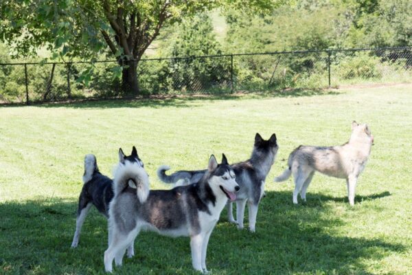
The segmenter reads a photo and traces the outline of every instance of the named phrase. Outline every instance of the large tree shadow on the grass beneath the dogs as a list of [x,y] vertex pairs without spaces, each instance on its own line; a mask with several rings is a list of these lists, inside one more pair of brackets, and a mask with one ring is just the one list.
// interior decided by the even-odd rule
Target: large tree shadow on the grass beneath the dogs
[[[387,195],[389,192],[382,192],[363,199]],[[322,202],[335,199],[313,197],[320,199],[294,206],[291,192],[268,192],[254,234],[228,223],[224,210],[209,242],[209,270],[218,274],[368,274],[365,262],[405,249],[381,239],[342,236],[337,231],[347,224]],[[343,199],[336,201],[347,205]],[[106,219],[92,210],[78,248],[71,249],[76,206],[76,201],[62,199],[0,204],[1,271],[104,274]],[[362,206],[351,211],[356,207]],[[188,238],[143,232],[135,241],[135,253],[133,259],[124,259],[123,267],[115,268],[116,274],[195,274]]]

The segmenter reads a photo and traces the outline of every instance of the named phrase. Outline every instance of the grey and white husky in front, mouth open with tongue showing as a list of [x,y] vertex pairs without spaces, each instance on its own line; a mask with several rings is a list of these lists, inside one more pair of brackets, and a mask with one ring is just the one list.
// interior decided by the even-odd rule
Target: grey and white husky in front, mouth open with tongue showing
[[[104,252],[106,272],[112,271],[113,259],[122,265],[124,251],[141,230],[168,236],[190,236],[192,265],[207,272],[206,251],[227,199],[236,199],[239,186],[225,155],[218,164],[211,155],[207,171],[196,184],[172,190],[150,190],[144,168],[119,164],[115,172],[115,197],[109,208],[109,239]],[[131,182],[130,182],[131,181]],[[132,184],[136,189],[127,187]]]

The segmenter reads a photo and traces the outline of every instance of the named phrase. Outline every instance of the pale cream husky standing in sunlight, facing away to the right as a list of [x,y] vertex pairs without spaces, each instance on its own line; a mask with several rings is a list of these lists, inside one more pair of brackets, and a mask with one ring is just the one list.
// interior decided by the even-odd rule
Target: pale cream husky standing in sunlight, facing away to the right
[[355,201],[355,188],[358,176],[365,168],[374,136],[367,124],[352,122],[349,142],[341,146],[318,147],[299,146],[289,155],[288,168],[275,181],[284,181],[293,173],[295,191],[293,203],[297,204],[297,194],[306,201],[306,190],[314,171],[331,177],[346,179],[347,197],[351,206]]

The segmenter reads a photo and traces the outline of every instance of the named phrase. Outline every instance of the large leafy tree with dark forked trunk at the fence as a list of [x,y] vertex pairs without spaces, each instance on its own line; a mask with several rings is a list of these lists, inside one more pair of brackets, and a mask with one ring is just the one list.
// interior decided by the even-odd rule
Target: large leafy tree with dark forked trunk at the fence
[[34,56],[39,47],[46,46],[55,58],[93,60],[103,52],[110,52],[119,65],[133,60],[121,67],[122,89],[137,94],[137,65],[163,25],[238,2],[245,2],[242,8],[250,6],[256,10],[272,9],[271,3],[275,3],[272,0],[103,0],[97,3],[5,0],[0,3],[0,41],[12,45],[18,56]]

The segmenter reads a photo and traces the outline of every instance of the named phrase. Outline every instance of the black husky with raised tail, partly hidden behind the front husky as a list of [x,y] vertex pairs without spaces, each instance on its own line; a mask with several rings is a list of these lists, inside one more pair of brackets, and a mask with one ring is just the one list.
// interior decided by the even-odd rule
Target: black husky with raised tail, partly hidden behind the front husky
[[[137,155],[135,146],[133,146],[132,154],[129,156],[124,155],[122,148],[120,148],[119,162],[122,164],[130,163],[144,167],[139,155]],[[80,230],[82,230],[84,219],[86,219],[91,206],[94,205],[95,208],[98,208],[100,213],[108,218],[108,206],[114,195],[113,180],[100,173],[95,155],[89,154],[84,157],[83,182],[84,185],[79,197],[76,232],[74,232],[73,242],[71,243],[72,248],[78,246]],[[130,187],[134,188],[135,186]],[[131,257],[134,254],[133,243],[131,243],[128,248],[128,257]]]

